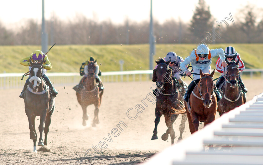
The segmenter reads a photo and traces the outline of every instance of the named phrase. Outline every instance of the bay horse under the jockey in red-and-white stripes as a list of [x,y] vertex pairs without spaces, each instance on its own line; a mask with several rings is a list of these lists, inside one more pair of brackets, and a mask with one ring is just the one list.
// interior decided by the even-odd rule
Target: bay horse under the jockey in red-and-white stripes
[[230,110],[238,107],[246,102],[246,95],[239,86],[239,59],[235,61],[227,61],[226,68],[226,80],[223,86],[222,99],[218,102],[217,111],[221,116],[223,113],[227,113]]

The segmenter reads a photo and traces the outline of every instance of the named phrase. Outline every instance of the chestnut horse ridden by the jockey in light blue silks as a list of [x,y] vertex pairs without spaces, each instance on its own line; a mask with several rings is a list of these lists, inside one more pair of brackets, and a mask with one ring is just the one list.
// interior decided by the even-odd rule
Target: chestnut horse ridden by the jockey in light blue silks
[[204,125],[214,121],[217,108],[213,81],[214,70],[211,74],[203,74],[200,70],[200,75],[201,79],[194,87],[189,103],[184,101],[191,133],[198,131],[199,121],[204,122]]

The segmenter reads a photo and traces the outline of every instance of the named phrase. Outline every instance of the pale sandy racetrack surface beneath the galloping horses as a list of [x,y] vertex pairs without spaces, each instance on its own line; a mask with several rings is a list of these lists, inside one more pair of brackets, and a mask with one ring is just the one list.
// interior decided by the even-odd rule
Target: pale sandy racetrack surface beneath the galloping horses
[[[248,88],[247,100],[262,92],[262,80],[244,80]],[[189,84],[189,81],[186,81]],[[146,161],[153,154],[171,145],[162,141],[161,135],[167,127],[164,117],[158,125],[158,138],[151,140],[154,129],[155,104],[145,101],[142,113],[136,119],[129,119],[126,115],[136,115],[135,106],[142,104],[141,100],[151,93],[151,81],[105,83],[105,92],[99,112],[100,124],[91,127],[94,117],[94,106],[88,107],[89,120],[87,126],[82,126],[82,109],[77,102],[73,86],[56,86],[59,95],[56,97],[56,108],[52,115],[48,134],[48,148],[50,152],[39,150],[32,153],[33,141],[29,138],[28,119],[24,110],[23,99],[19,98],[22,89],[0,90],[0,164],[136,164]],[[151,99],[150,95],[149,99]],[[217,115],[219,116],[219,115]],[[116,125],[120,122],[120,128]],[[176,138],[179,135],[180,116],[173,128]],[[39,117],[36,118],[36,127]],[[118,129],[120,134],[111,135],[112,129]],[[37,133],[39,136],[38,128]],[[111,137],[109,137],[111,135]],[[188,121],[183,138],[189,137]],[[39,137],[38,137],[39,138]],[[105,139],[108,139],[105,140]],[[99,146],[101,141],[106,143],[95,153],[94,157],[86,157],[85,152],[92,146]],[[110,142],[111,141],[111,142]],[[91,152],[89,152],[91,153]]]

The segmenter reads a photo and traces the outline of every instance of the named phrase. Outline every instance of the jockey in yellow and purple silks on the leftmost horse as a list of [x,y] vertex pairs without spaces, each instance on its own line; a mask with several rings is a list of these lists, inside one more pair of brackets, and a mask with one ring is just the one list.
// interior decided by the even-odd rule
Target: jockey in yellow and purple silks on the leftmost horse
[[[30,56],[28,57],[25,57],[23,58],[22,60],[20,60],[20,64],[23,65],[23,66],[29,66],[29,70],[31,69],[31,66],[30,66],[30,62],[29,62],[29,59],[31,59],[32,62],[34,61],[40,61],[44,58],[44,64],[42,65],[42,77],[44,78],[44,80],[46,81],[47,85],[49,85],[50,89],[51,89],[51,92],[53,94],[54,97],[57,96],[58,92],[57,90],[54,88],[54,86],[52,85],[51,81],[49,80],[48,76],[45,75],[46,71],[47,70],[51,70],[52,68],[52,65],[49,61],[49,58],[46,54],[44,54],[42,51],[34,51]],[[26,90],[27,88],[27,85],[29,84],[29,78],[26,80],[26,83],[24,85],[24,88],[21,92],[21,94],[19,95],[19,97],[23,98],[24,99],[24,91]]]

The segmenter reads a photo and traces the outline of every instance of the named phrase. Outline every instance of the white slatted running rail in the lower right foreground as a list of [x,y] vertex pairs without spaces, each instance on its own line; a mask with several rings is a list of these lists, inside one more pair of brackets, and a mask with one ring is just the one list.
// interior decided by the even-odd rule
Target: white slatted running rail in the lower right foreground
[[140,165],[262,165],[263,93]]

